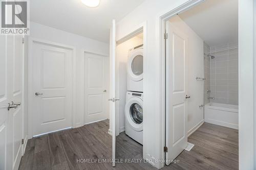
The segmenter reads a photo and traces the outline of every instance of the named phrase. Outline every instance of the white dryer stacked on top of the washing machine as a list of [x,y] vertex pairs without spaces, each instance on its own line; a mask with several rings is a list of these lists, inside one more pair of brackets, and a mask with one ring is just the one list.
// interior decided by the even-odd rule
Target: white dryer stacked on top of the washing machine
[[134,47],[127,61],[127,90],[143,92],[143,45]]

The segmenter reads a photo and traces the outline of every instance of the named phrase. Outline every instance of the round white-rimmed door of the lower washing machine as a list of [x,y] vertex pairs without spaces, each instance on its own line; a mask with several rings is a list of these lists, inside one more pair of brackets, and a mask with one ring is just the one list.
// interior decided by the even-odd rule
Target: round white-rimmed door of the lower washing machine
[[143,101],[140,98],[133,97],[126,102],[125,119],[133,130],[143,130]]

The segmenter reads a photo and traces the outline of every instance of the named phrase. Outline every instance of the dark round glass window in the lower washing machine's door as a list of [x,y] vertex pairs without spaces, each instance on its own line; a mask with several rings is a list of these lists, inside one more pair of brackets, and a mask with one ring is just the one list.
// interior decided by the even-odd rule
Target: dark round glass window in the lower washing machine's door
[[135,124],[141,124],[143,122],[143,109],[142,107],[134,103],[130,107],[130,116]]

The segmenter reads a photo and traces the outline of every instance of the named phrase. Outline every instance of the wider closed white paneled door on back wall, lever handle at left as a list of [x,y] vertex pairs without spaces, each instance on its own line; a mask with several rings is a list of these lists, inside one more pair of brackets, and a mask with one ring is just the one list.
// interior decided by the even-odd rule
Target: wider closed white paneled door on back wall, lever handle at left
[[33,136],[72,127],[73,50],[30,40]]

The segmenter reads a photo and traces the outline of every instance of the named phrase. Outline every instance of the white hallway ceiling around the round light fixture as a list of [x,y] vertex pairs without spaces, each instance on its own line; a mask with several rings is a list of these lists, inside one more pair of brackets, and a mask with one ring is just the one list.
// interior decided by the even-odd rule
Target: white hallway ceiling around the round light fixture
[[101,0],[96,8],[89,8],[80,0],[30,1],[31,21],[109,42],[112,19],[119,21],[144,0]]

